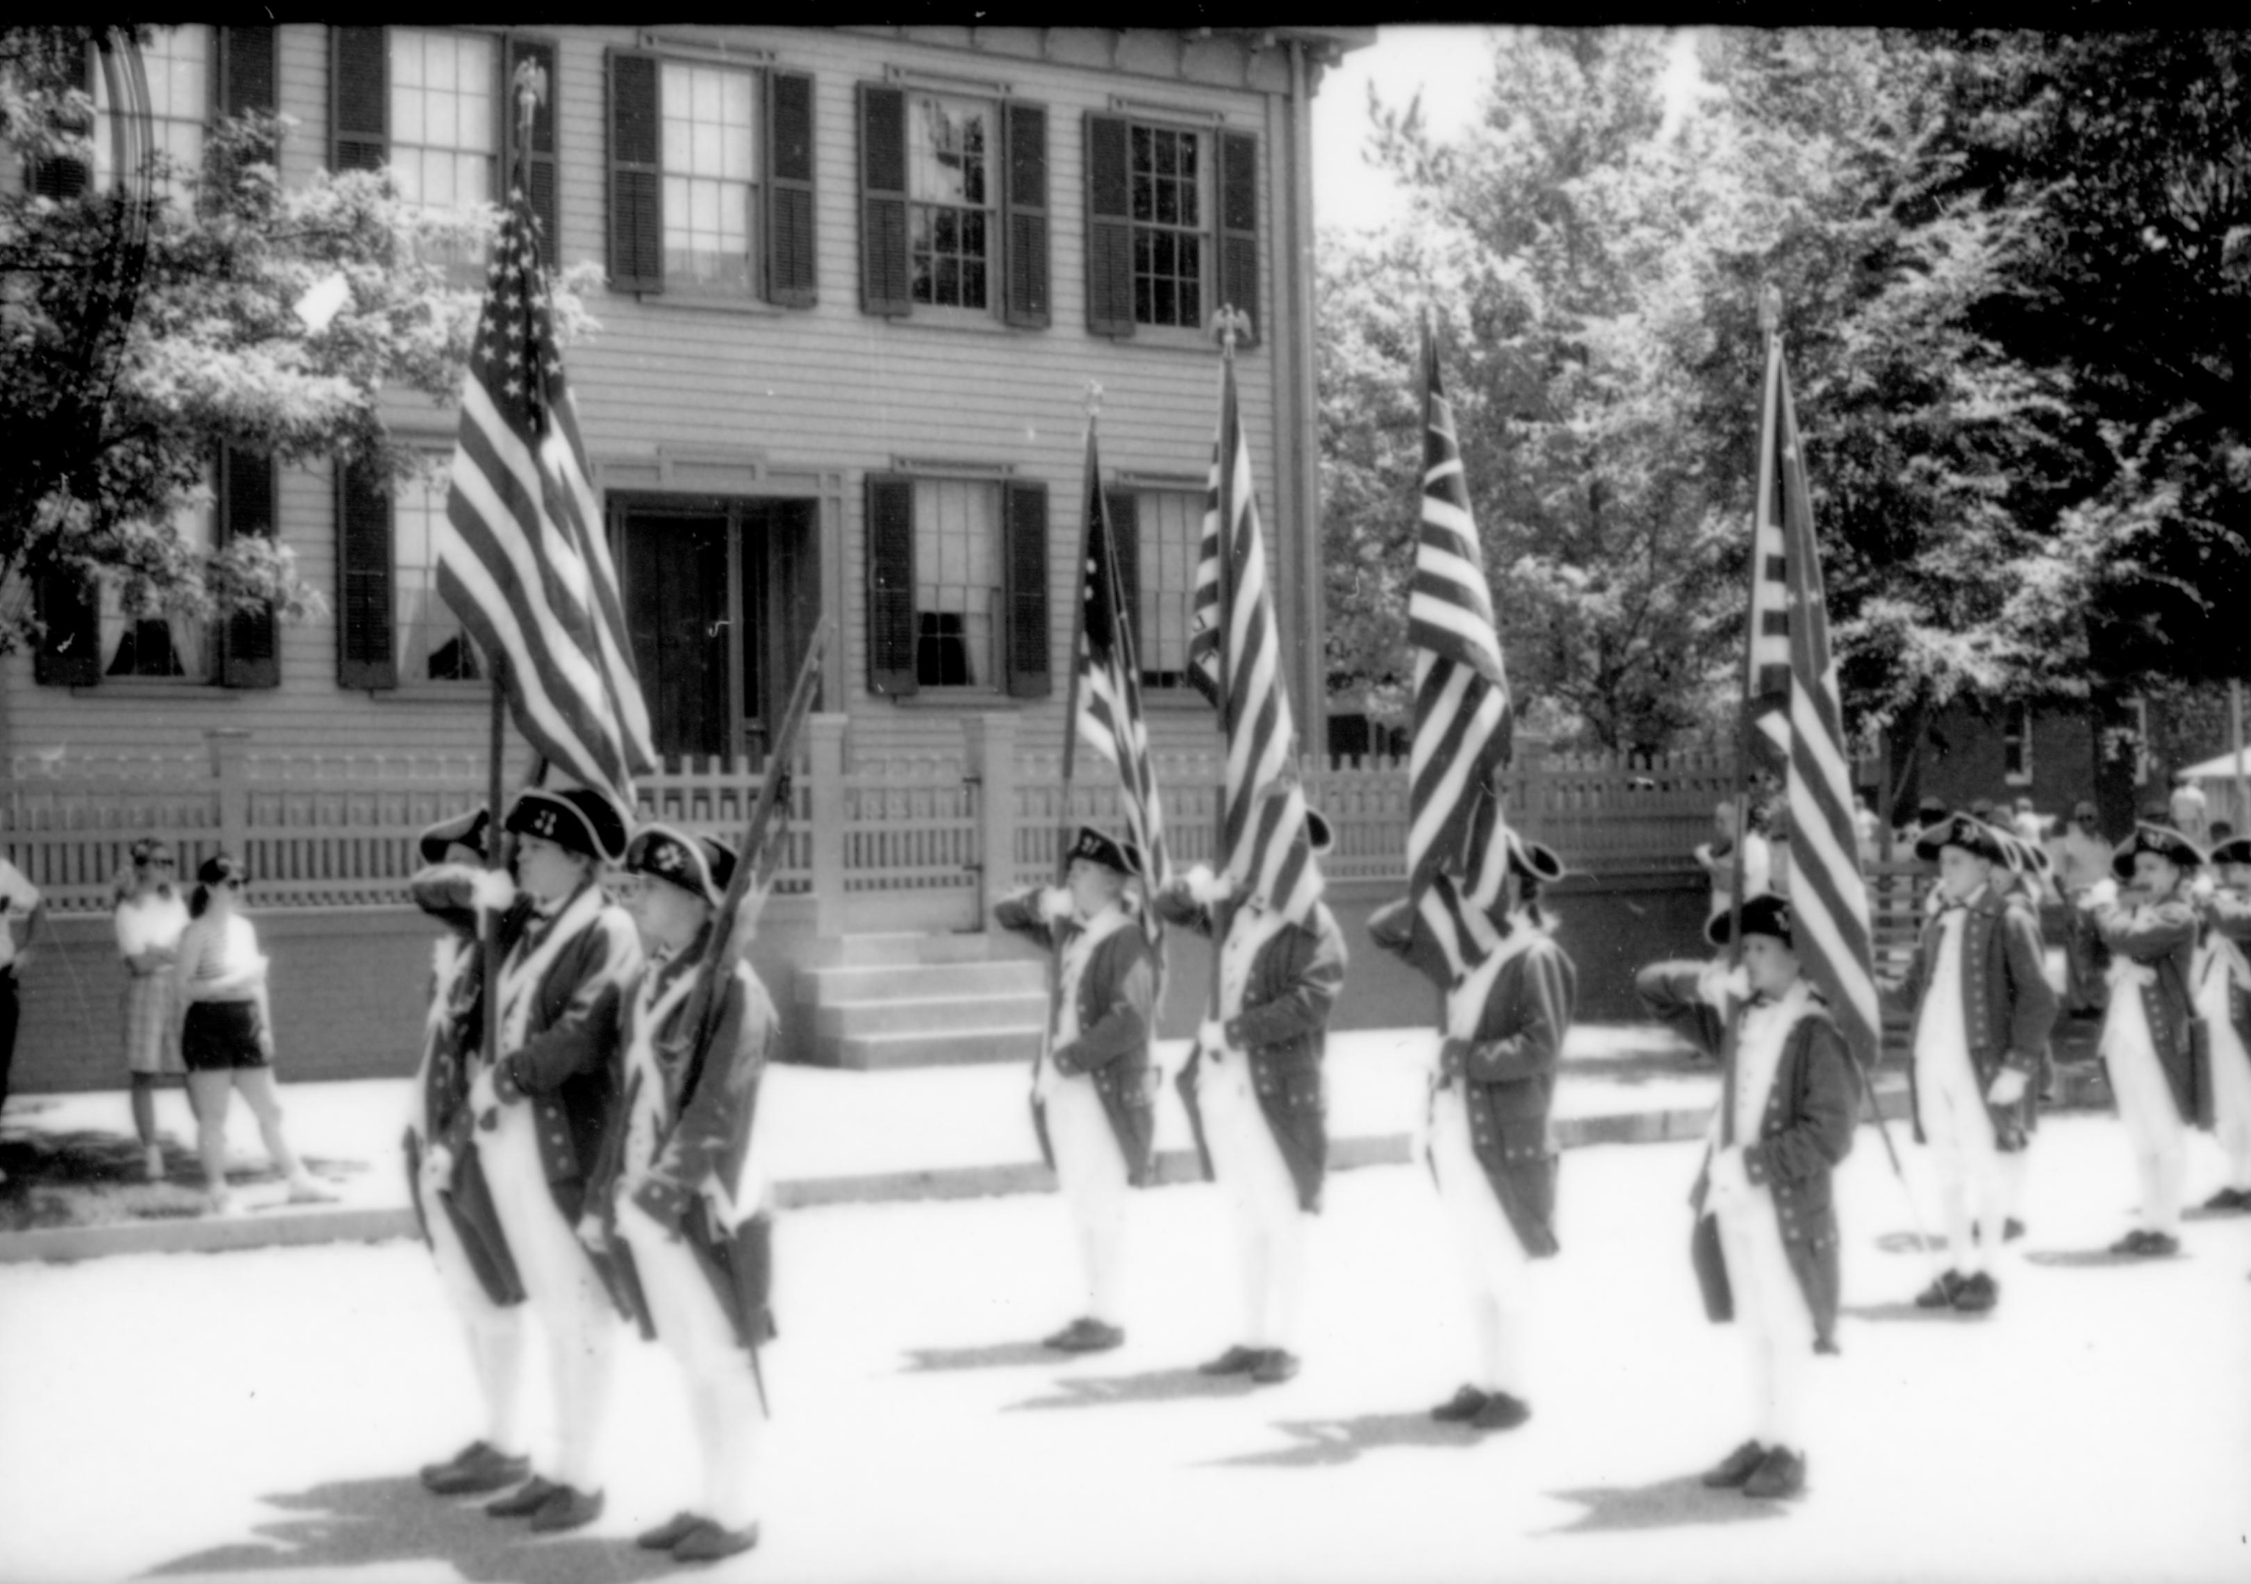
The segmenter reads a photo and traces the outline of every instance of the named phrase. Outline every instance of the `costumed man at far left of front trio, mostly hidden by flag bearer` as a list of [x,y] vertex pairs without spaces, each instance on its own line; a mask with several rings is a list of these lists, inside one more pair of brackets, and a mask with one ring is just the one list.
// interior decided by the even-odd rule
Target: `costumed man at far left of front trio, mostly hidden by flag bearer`
[[468,1082],[484,1040],[484,914],[504,914],[515,886],[484,868],[493,819],[484,808],[421,832],[423,868],[407,882],[414,904],[446,925],[430,952],[430,1012],[423,1019],[414,1109],[407,1118],[407,1188],[439,1282],[468,1339],[484,1397],[484,1433],[421,1472],[439,1496],[504,1490],[531,1474],[522,1429],[524,1287],[500,1238],[477,1156],[457,1161],[446,1138],[468,1125]]

